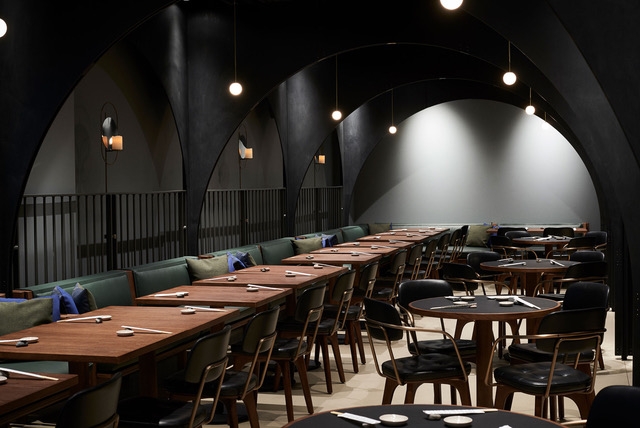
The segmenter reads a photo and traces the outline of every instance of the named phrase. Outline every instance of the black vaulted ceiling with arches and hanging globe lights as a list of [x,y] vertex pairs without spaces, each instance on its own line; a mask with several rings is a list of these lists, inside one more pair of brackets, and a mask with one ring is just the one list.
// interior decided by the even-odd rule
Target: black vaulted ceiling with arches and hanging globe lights
[[[233,78],[230,0],[0,0],[0,17],[9,23],[0,39],[3,289],[11,281],[20,198],[48,127],[92,64],[126,40],[149,62],[171,103],[191,250],[211,172],[260,102],[269,102],[278,125],[292,212],[307,165],[332,133],[350,199],[364,159],[386,132],[382,106],[391,89],[399,122],[455,99],[523,107],[532,88],[536,114],[546,112],[592,175],[617,257],[616,283],[634,295],[640,291],[640,264],[628,262],[640,256],[635,0],[465,0],[454,12],[438,0],[238,0],[244,86],[238,98],[226,92]],[[501,81],[509,42],[519,79],[513,87]],[[327,110],[334,103],[336,55],[345,116],[339,125]]]

